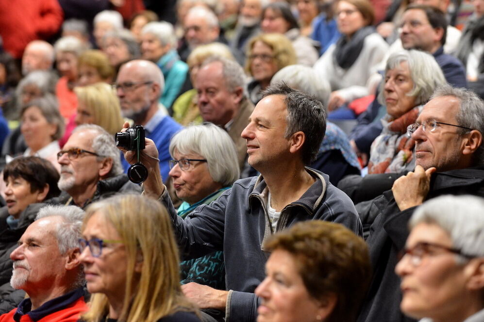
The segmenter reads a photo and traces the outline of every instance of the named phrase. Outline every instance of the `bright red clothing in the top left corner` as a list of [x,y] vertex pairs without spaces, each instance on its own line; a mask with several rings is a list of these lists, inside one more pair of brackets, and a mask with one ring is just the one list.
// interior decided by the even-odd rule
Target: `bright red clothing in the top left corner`
[[56,33],[63,17],[57,0],[0,0],[3,48],[14,58],[22,58],[27,44]]

